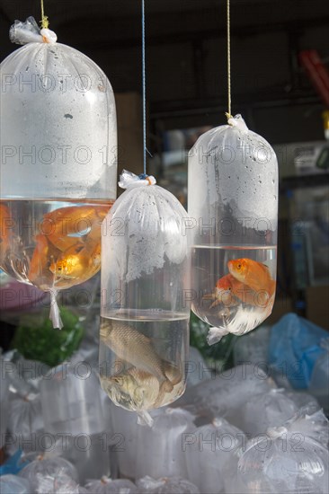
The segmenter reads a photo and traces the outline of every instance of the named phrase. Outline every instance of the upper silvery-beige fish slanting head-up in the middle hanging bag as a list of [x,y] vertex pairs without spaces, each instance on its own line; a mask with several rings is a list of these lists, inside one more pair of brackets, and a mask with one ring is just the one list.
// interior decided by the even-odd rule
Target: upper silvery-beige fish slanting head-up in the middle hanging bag
[[108,322],[101,323],[101,338],[121,360],[125,360],[138,371],[154,375],[158,382],[164,384],[166,392],[173,390],[173,385],[180,381],[182,372],[177,366],[166,362],[156,353],[147,336],[125,322],[115,322],[109,331]]

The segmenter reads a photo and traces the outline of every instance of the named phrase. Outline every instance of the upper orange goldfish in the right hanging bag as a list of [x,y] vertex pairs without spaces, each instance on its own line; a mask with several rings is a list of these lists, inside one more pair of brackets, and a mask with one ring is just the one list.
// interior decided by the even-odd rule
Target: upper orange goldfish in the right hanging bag
[[237,281],[251,287],[255,292],[265,291],[269,296],[274,294],[275,281],[271,278],[270,269],[262,262],[247,258],[229,260],[227,268]]

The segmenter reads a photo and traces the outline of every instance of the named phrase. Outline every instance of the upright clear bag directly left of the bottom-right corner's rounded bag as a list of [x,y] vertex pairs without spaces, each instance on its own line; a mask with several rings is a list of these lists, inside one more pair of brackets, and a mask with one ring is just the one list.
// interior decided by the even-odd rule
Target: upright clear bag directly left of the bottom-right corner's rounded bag
[[218,494],[236,476],[240,449],[246,443],[242,430],[225,419],[196,428],[184,437],[188,479],[200,492]]

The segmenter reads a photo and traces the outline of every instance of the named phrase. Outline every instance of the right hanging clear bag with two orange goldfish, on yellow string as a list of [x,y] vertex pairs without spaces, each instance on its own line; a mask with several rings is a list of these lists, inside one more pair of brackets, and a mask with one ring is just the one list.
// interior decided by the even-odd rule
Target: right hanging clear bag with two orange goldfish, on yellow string
[[241,115],[199,137],[189,153],[191,308],[213,328],[252,331],[270,314],[276,287],[278,163]]

